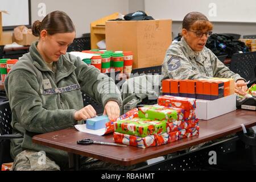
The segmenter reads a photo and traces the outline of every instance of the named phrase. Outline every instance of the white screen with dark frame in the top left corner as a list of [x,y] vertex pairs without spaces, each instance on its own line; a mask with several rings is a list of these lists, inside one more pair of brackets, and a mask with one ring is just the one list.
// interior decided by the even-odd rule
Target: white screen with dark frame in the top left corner
[[9,13],[2,13],[3,30],[13,30],[20,25],[31,25],[30,0],[0,0],[0,10],[6,10]]

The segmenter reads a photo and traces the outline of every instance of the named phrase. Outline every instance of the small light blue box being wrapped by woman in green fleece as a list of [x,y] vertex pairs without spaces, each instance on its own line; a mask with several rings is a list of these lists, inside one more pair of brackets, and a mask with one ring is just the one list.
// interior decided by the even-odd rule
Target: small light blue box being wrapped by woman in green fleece
[[107,115],[101,115],[98,117],[86,119],[86,129],[99,130],[106,127],[106,123],[109,122]]

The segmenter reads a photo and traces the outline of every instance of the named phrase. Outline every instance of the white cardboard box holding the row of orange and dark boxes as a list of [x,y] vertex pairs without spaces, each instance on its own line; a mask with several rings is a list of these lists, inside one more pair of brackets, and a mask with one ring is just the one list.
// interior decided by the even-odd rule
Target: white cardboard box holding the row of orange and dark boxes
[[213,101],[196,100],[196,118],[208,120],[236,110],[236,94]]

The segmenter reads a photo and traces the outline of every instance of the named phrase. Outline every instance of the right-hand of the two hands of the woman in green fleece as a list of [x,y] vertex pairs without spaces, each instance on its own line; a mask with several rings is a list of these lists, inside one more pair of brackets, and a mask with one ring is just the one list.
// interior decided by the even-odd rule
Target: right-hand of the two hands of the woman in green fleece
[[108,101],[105,105],[103,115],[108,115],[110,120],[117,119],[120,115],[120,108],[117,102]]

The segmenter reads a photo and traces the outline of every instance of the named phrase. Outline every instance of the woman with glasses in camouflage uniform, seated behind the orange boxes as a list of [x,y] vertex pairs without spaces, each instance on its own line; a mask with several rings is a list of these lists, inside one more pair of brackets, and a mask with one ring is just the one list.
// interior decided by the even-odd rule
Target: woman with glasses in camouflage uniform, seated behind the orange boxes
[[183,36],[180,42],[171,44],[166,52],[162,66],[164,78],[234,78],[235,92],[245,95],[246,80],[225,67],[214,53],[205,47],[213,29],[213,24],[207,17],[199,12],[188,13],[183,19],[182,26]]

